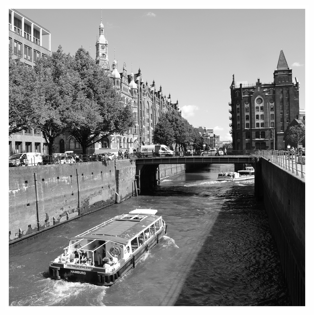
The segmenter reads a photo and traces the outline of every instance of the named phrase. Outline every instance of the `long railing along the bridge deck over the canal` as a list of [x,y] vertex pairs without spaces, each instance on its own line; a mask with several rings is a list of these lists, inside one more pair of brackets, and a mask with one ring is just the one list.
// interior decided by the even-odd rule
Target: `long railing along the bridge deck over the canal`
[[134,152],[130,154],[131,157],[137,158],[153,158],[153,157],[202,157],[202,156],[261,156],[260,150],[227,150],[224,151],[177,151],[174,152],[174,155],[162,151],[162,152]]

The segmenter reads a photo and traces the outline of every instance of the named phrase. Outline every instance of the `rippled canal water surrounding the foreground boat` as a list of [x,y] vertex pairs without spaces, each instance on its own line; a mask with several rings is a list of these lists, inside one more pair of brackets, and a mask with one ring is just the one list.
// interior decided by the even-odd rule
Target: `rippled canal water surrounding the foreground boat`
[[[9,250],[11,306],[288,306],[278,253],[254,180],[217,181],[233,164],[164,180],[151,195],[86,215]],[[111,287],[49,278],[68,239],[136,208],[157,209],[167,234]]]

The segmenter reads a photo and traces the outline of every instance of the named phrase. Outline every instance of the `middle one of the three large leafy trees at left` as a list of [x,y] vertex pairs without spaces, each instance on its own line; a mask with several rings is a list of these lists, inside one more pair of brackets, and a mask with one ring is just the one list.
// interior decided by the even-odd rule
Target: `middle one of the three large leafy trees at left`
[[73,56],[64,54],[59,46],[56,52],[41,58],[34,67],[36,85],[39,86],[36,102],[42,105],[36,129],[42,131],[49,155],[52,155],[55,138],[69,130],[67,117],[74,105],[83,102],[82,93],[73,88],[80,85],[80,77],[73,70],[73,64]]

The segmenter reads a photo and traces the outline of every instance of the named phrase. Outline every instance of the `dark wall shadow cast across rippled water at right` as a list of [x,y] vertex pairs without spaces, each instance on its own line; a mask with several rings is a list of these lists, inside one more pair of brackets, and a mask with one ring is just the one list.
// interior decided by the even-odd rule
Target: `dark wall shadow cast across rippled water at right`
[[289,306],[264,205],[234,187],[183,284],[175,306]]

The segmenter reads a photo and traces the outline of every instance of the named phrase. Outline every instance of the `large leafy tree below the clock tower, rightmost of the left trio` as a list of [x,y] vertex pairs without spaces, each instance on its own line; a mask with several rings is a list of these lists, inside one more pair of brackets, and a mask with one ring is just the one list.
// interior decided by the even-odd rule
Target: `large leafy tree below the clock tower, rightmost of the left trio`
[[83,98],[74,104],[67,123],[85,154],[88,146],[107,135],[127,132],[134,124],[133,109],[124,105],[112,79],[82,47],[75,53],[74,70],[80,77],[77,95],[82,93]]

